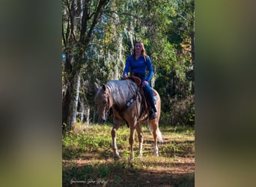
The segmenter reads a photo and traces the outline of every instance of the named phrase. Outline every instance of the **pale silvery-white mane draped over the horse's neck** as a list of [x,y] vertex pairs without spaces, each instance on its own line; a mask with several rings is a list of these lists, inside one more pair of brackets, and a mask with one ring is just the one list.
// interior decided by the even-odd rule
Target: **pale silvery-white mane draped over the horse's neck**
[[138,87],[129,79],[126,80],[112,80],[106,83],[112,95],[115,105],[120,107],[127,104],[128,99],[135,95]]

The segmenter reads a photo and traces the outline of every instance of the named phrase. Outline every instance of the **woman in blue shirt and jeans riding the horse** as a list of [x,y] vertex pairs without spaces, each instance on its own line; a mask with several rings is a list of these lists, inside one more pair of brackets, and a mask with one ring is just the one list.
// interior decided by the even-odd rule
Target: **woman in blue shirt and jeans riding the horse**
[[[127,58],[123,73],[124,79],[128,78],[127,74],[129,72],[129,67],[130,72],[133,73],[133,76],[137,76],[139,79],[141,79],[141,85],[143,87],[144,94],[146,95],[147,102],[150,105],[149,119],[156,119],[156,107],[153,102],[153,93],[150,85],[148,84],[153,76],[153,67],[150,57],[146,55],[144,44],[142,42],[135,43],[133,54],[129,55]],[[148,70],[147,76],[146,67]]]

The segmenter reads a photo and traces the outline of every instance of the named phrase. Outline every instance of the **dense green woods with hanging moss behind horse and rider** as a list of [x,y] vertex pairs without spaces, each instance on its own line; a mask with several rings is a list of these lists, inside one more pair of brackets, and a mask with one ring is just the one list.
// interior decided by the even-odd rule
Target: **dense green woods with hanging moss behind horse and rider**
[[62,122],[97,119],[94,82],[121,79],[136,40],[155,70],[161,125],[193,125],[195,27],[193,0],[63,0]]

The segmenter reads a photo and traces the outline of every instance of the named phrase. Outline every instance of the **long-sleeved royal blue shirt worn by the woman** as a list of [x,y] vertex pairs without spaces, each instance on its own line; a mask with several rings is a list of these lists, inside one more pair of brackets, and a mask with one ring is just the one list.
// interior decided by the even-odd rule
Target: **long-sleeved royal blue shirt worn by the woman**
[[127,58],[125,67],[124,67],[124,73],[123,74],[128,75],[129,67],[131,68],[130,72],[144,73],[144,74],[146,74],[146,68],[147,68],[148,74],[147,74],[147,77],[145,79],[147,82],[149,82],[150,79],[153,76],[152,62],[151,62],[149,56],[146,56],[146,61],[145,61],[143,55],[141,55],[138,58],[138,60],[133,59],[132,55],[129,55],[129,57]]

